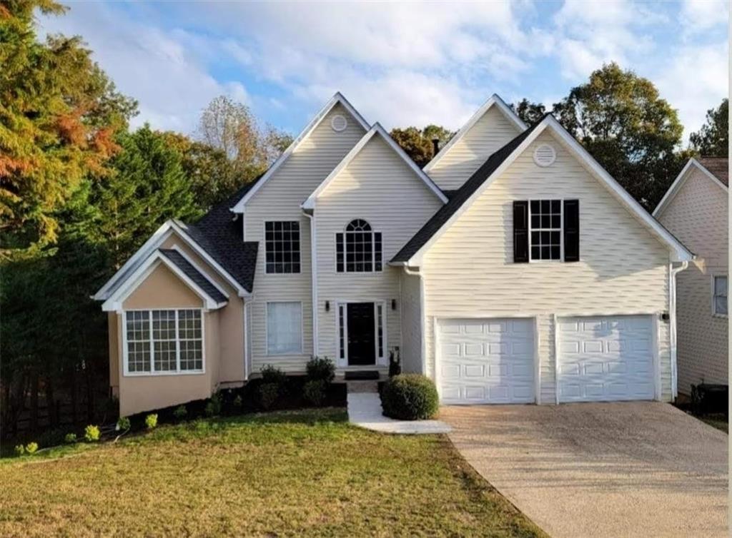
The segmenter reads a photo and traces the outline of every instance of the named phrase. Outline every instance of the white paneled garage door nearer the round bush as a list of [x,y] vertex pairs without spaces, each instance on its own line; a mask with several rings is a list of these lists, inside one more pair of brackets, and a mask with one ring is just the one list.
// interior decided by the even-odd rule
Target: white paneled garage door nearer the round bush
[[531,319],[444,319],[438,323],[438,382],[444,404],[534,401]]

